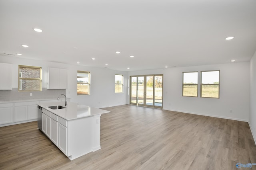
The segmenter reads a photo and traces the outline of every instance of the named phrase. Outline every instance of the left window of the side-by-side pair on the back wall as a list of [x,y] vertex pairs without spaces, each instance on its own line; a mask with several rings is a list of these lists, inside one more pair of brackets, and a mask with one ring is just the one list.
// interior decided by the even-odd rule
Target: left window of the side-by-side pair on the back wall
[[182,96],[197,97],[198,72],[183,72]]

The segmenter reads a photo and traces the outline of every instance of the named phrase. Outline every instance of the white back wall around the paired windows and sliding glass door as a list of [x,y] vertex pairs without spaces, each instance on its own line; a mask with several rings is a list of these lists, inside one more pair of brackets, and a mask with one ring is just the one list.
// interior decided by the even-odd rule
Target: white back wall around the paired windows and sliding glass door
[[[198,71],[200,80],[200,71],[206,70],[220,70],[220,98],[200,98],[200,86],[198,98],[182,97],[182,72]],[[249,62],[142,70],[128,74],[164,74],[163,109],[248,121]]]

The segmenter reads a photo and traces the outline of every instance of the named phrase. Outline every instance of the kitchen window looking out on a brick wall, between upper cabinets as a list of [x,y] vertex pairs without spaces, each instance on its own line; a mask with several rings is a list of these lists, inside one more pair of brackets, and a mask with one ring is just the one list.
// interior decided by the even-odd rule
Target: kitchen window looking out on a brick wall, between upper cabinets
[[42,68],[19,65],[18,91],[42,91]]

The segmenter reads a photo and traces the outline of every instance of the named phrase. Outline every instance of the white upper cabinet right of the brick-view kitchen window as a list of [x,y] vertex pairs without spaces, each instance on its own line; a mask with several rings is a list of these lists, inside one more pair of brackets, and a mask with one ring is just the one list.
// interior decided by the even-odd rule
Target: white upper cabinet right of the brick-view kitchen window
[[63,68],[48,68],[48,89],[67,89],[68,70]]

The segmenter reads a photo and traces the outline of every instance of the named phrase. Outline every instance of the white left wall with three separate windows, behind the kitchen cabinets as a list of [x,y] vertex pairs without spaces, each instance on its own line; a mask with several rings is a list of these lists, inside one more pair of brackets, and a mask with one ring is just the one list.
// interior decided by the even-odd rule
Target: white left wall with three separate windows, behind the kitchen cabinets
[[[127,103],[127,72],[72,64],[22,59],[21,57],[6,57],[1,55],[0,63],[12,64],[12,88],[18,88],[18,65],[42,67],[43,88],[47,88],[48,67],[66,68],[68,69],[68,89],[66,89],[66,96],[71,98],[72,102],[77,102],[79,104],[85,104],[92,107],[118,106]],[[77,70],[90,72],[91,95],[77,96]],[[115,74],[124,75],[124,93],[115,93]],[[56,99],[57,98],[58,96],[56,96]]]

